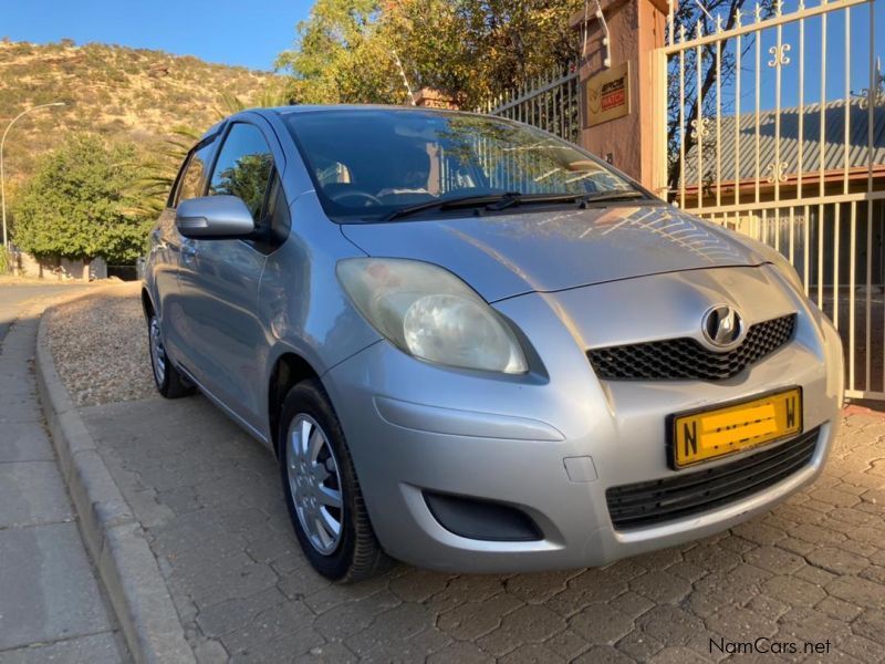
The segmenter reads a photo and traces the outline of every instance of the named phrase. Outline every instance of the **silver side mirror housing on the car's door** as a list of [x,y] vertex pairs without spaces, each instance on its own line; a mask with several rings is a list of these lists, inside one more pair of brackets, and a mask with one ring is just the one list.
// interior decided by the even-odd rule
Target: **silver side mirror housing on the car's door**
[[238,196],[205,196],[178,204],[175,225],[186,238],[241,238],[256,230],[252,214]]

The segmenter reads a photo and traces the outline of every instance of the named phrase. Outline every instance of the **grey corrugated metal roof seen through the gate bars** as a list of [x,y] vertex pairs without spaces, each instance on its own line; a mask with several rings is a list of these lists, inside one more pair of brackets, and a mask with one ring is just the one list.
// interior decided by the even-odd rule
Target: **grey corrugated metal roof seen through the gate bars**
[[[722,172],[721,181],[733,181],[738,173],[736,146],[740,148],[741,180],[756,178],[757,135],[759,137],[759,172],[762,181],[771,175],[778,144],[777,112],[762,111],[759,114],[757,132],[756,112],[740,115],[738,137],[735,136],[733,115],[720,120]],[[799,108],[782,108],[780,113],[780,162],[785,163],[783,174],[788,177],[799,173],[800,146]],[[867,166],[870,112],[862,108],[860,100],[853,100],[848,113],[848,167]],[[823,113],[824,135],[821,142],[821,104],[809,104],[802,114],[802,173],[819,173],[821,169],[821,146],[823,146],[824,170],[842,170],[845,167],[845,102],[830,102]],[[704,136],[702,169],[705,181],[717,179],[716,120],[707,122]],[[697,145],[686,154],[686,186],[697,185]],[[876,107],[873,113],[873,164],[885,165],[885,108]]]

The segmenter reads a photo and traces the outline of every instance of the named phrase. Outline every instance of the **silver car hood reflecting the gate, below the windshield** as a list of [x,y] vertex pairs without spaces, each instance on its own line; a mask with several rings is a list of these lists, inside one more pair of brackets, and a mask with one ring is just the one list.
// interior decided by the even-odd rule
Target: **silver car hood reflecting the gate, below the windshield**
[[727,231],[665,205],[350,224],[373,257],[444,267],[487,301],[764,258]]

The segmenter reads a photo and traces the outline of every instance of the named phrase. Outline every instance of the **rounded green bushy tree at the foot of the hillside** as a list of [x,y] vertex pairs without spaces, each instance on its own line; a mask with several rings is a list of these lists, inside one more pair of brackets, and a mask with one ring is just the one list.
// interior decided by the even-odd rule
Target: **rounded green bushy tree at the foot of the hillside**
[[13,204],[15,245],[38,257],[131,263],[149,221],[135,209],[140,167],[131,145],[74,135],[44,155]]

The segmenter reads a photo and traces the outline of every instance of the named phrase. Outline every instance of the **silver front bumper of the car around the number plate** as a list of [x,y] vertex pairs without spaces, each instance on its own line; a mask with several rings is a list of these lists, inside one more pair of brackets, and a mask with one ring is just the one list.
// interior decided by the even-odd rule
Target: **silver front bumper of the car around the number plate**
[[[386,342],[339,364],[323,383],[382,546],[394,558],[446,571],[597,567],[701,538],[769,510],[821,473],[840,419],[841,343],[829,322],[798,299],[795,304],[799,328],[792,342],[740,375],[715,383],[601,383],[574,330],[562,324],[563,312],[541,294],[498,305],[520,321],[538,357],[544,359],[543,370],[529,376],[440,367]],[[803,430],[820,429],[805,467],[709,511],[631,530],[613,527],[610,487],[674,474],[665,452],[667,415],[792,385],[803,388]],[[517,507],[542,537],[487,541],[455,535],[434,517],[425,491]]]

